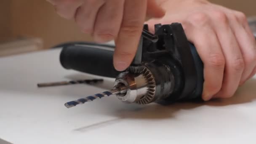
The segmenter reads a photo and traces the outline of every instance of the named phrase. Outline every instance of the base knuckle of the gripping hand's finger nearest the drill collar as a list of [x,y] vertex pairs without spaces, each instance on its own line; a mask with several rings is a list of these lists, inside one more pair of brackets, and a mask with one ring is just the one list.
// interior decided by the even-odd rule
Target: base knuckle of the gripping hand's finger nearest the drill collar
[[201,27],[209,23],[209,17],[205,13],[194,13],[189,17],[189,21]]

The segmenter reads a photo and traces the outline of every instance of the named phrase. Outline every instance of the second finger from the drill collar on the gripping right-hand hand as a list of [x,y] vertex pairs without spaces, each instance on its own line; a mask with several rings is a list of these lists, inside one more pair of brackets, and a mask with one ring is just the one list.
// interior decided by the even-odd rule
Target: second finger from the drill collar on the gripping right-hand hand
[[211,21],[225,58],[224,79],[221,91],[215,98],[227,98],[234,95],[244,70],[243,56],[237,39],[229,26],[229,19],[222,11],[211,11]]

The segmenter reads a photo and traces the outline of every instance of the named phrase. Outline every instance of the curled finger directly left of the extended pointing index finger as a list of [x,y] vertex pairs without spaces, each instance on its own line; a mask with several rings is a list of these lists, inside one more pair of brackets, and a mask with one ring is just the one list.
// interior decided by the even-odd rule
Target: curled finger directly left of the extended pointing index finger
[[94,24],[94,40],[99,43],[117,37],[123,18],[125,0],[108,0],[99,10]]

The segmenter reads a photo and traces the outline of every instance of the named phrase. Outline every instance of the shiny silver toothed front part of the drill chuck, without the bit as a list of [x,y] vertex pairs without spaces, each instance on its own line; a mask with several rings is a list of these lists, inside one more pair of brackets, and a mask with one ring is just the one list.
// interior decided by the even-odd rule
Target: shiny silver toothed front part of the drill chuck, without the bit
[[137,69],[130,69],[117,76],[114,87],[123,85],[127,91],[116,96],[126,103],[149,104],[155,97],[155,78],[147,67],[138,72]]

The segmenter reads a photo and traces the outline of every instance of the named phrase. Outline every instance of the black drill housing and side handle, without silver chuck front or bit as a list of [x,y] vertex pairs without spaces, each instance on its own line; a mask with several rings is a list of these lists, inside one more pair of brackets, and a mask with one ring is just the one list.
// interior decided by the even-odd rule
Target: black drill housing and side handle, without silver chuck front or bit
[[[144,30],[149,30],[148,25],[144,25]],[[127,78],[127,75],[133,75],[131,79],[134,80],[134,77],[146,73],[147,79],[154,82],[155,86],[150,102],[170,104],[176,101],[201,100],[203,62],[195,46],[187,40],[182,25],[156,24],[155,36],[158,37],[156,42],[141,37],[131,66],[123,72],[117,72],[113,66],[113,51],[95,49],[95,46],[93,48],[88,45],[64,47],[60,55],[61,65],[66,69],[115,77],[116,81]],[[99,69],[104,69],[104,72]],[[118,84],[115,83],[115,86]],[[122,96],[119,97],[123,99]]]

